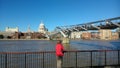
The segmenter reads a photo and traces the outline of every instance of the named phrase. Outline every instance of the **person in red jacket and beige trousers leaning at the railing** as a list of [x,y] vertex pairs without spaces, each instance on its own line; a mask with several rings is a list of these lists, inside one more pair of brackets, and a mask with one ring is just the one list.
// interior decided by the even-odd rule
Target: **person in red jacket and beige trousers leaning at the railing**
[[63,55],[64,55],[64,47],[62,45],[62,41],[58,40],[56,44],[57,68],[62,68]]

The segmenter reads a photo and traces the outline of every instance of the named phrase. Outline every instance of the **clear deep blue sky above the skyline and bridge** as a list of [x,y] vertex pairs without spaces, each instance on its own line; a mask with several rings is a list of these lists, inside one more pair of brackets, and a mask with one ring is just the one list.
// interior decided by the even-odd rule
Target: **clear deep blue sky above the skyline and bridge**
[[57,26],[84,24],[120,17],[120,0],[0,0],[0,31],[18,27],[38,31],[42,21],[48,31]]

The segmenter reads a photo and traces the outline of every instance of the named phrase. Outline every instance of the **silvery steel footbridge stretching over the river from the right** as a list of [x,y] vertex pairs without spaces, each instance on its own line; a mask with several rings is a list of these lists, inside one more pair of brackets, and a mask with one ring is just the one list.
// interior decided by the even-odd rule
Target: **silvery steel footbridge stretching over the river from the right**
[[83,24],[68,25],[68,26],[57,26],[55,30],[48,35],[54,36],[57,33],[61,33],[63,37],[68,37],[71,32],[90,31],[90,30],[101,30],[101,29],[116,29],[120,27],[120,17],[109,18],[94,22],[88,22]]

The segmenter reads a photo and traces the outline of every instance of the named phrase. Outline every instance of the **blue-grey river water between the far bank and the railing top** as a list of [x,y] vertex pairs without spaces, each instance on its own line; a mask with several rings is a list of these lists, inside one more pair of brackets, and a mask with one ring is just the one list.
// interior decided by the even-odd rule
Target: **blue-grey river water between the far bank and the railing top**
[[[56,41],[0,40],[0,52],[55,51]],[[66,50],[120,50],[120,40],[71,40],[63,44]]]

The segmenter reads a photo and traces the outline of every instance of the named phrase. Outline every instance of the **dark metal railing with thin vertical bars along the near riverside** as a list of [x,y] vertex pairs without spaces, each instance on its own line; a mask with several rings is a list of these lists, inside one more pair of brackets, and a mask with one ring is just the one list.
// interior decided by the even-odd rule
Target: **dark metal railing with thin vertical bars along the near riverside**
[[[120,50],[67,51],[63,68],[120,65]],[[56,68],[55,51],[0,52],[0,68]]]

